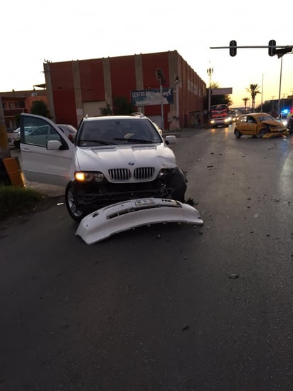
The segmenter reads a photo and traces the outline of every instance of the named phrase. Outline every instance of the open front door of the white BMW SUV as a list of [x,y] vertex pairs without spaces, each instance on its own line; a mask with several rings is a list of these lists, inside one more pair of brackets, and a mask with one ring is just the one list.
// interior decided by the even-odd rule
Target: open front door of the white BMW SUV
[[53,121],[21,114],[22,170],[28,181],[65,186],[75,145]]

